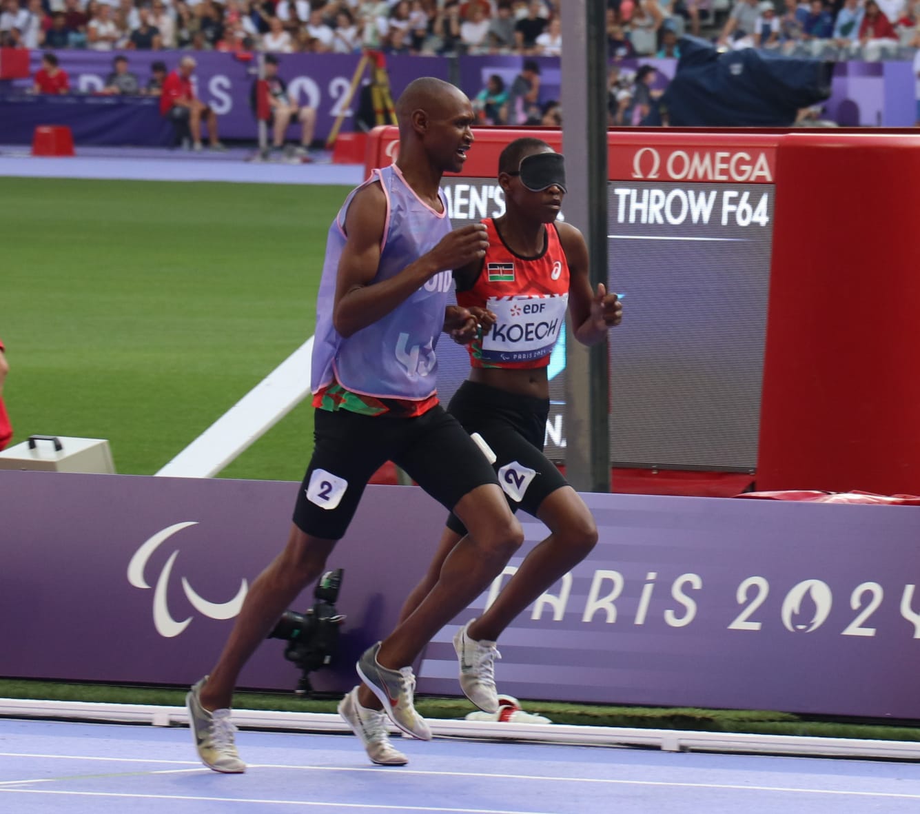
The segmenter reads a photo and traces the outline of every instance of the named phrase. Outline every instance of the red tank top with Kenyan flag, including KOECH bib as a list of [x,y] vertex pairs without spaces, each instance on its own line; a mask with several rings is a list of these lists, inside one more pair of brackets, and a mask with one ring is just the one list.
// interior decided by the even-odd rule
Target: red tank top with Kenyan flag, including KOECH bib
[[569,304],[569,264],[556,224],[546,224],[546,246],[523,258],[505,246],[495,222],[483,221],[489,249],[473,286],[457,304],[489,308],[498,316],[489,333],[467,346],[473,367],[538,368],[549,364]]

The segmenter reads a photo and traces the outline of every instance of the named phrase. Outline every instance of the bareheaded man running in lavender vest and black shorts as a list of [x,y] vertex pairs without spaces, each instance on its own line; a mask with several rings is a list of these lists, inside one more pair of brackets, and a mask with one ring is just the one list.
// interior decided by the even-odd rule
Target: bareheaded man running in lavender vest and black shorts
[[[353,190],[329,228],[312,364],[316,442],[288,543],[253,582],[217,665],[187,698],[201,760],[218,772],[246,769],[229,720],[239,671],[322,573],[381,464],[402,466],[469,529],[415,612],[358,663],[362,681],[408,734],[431,739],[413,706],[408,665],[523,542],[488,460],[435,392],[436,340],[444,327],[468,323],[460,309],[445,326],[449,275],[488,246],[482,224],[451,231],[439,188],[443,172],[459,172],[466,160],[473,109],[456,87],[431,77],[410,83],[396,109],[396,164]],[[373,739],[376,762],[406,762],[386,739],[382,713],[355,710],[349,723]]]

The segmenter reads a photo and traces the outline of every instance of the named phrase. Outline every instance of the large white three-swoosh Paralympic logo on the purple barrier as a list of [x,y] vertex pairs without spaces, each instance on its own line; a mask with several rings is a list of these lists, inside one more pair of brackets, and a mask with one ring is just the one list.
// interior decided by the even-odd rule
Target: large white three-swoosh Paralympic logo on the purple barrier
[[[178,522],[155,533],[152,537],[147,539],[144,544],[134,552],[131,562],[128,563],[128,581],[135,588],[149,589],[151,586],[147,583],[144,571],[151,557],[154,556],[156,549],[159,548],[160,545],[166,543],[173,534],[195,525],[198,525],[198,523]],[[173,617],[172,613],[170,613],[167,604],[169,581],[172,579],[173,568],[176,565],[178,554],[177,548],[169,555],[166,565],[163,566],[159,576],[156,578],[156,585],[154,588],[154,626],[156,632],[160,636],[165,636],[167,638],[172,638],[182,633],[182,631],[189,626],[192,619],[191,616],[188,616],[182,621],[178,621]],[[239,613],[240,608],[243,607],[243,600],[246,599],[248,590],[246,579],[242,580],[239,590],[236,591],[236,596],[229,602],[209,602],[204,599],[197,590],[191,587],[188,579],[185,577],[181,579],[182,590],[185,593],[186,599],[189,600],[190,605],[196,611],[204,616],[211,619],[232,619]]]

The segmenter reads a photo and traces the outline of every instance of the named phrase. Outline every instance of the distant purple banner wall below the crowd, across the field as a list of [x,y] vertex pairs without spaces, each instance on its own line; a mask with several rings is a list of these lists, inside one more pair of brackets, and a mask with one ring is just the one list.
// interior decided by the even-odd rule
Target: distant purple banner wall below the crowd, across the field
[[[126,52],[131,70],[142,85],[150,76],[150,63],[163,60],[172,70],[183,52]],[[40,52],[31,53],[31,70],[40,66]],[[112,53],[91,51],[58,52],[61,66],[71,77],[77,92],[93,93],[103,86],[111,70]],[[197,52],[196,79],[199,96],[221,117],[221,134],[227,139],[255,140],[256,121],[249,107],[249,87],[254,64],[241,62],[232,54]],[[359,57],[351,54],[282,54],[279,73],[288,81],[291,94],[300,104],[318,110],[316,138],[325,139],[339,114],[351,85]],[[519,56],[465,56],[457,60],[458,81],[468,95],[475,96],[491,74],[500,74],[511,82],[521,68]],[[559,98],[559,61],[539,57],[541,98]],[[673,76],[673,60],[626,60],[623,67],[636,70],[639,64],[655,65],[663,76]],[[388,57],[393,97],[420,75],[448,79],[451,61],[443,57]],[[29,86],[17,80],[14,86]],[[915,118],[914,75],[911,63],[838,63],[834,71],[832,97],[826,104],[826,116],[841,124],[911,126]],[[356,107],[352,105],[352,107]],[[350,120],[344,129],[351,130]],[[291,134],[293,136],[294,129]]]

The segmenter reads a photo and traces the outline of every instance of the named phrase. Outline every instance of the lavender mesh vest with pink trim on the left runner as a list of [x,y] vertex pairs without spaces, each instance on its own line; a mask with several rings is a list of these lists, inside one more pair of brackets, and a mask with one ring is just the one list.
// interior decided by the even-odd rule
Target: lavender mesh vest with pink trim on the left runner
[[345,215],[359,189],[379,181],[386,196],[380,265],[374,282],[397,275],[429,252],[451,230],[443,192],[443,212],[435,212],[408,186],[396,165],[374,169],[342,204],[329,226],[326,260],[316,298],[316,338],[310,389],[316,394],[333,381],[358,396],[421,400],[434,395],[438,363],[434,355],[444,324],[451,272],[441,271],[389,314],[342,337],[332,324],[339,258],[345,246]]

